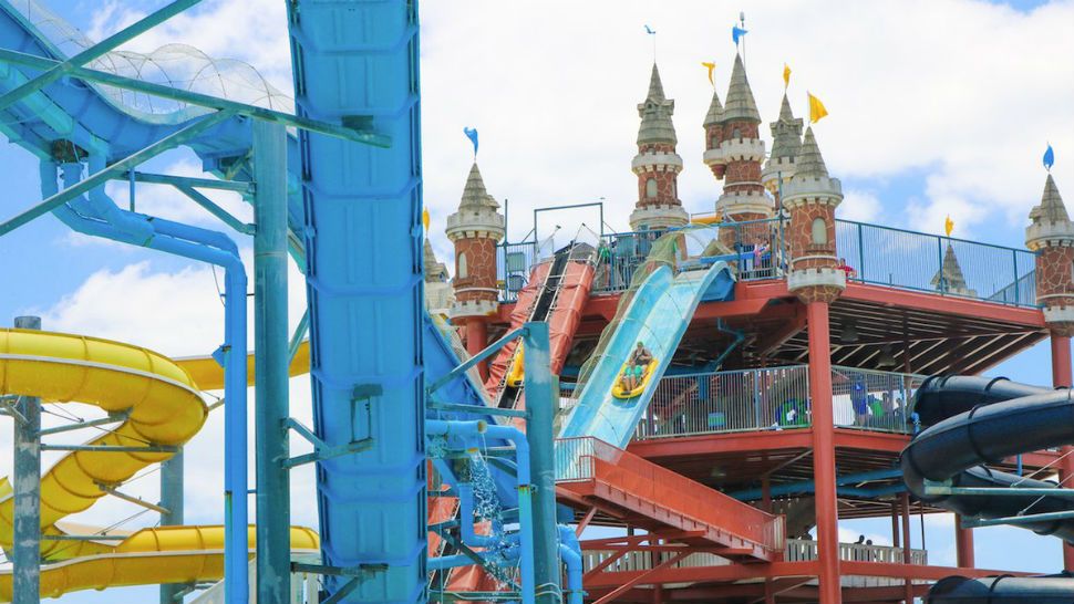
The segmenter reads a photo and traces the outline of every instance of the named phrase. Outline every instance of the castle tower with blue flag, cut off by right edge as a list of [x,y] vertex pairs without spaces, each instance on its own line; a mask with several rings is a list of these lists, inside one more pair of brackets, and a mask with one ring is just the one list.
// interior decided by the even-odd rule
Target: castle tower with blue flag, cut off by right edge
[[1037,252],[1036,302],[1043,304],[1044,322],[1054,335],[1074,335],[1074,223],[1051,174],[1030,220],[1025,247]]

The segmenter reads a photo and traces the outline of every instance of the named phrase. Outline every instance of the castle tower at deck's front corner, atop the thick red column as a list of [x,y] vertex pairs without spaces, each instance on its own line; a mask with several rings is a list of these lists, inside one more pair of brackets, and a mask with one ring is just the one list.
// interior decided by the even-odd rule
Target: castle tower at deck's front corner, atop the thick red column
[[830,303],[847,287],[835,249],[835,208],[843,201],[843,185],[828,176],[812,127],[795,163],[795,175],[783,187],[783,207],[791,212],[787,289],[805,303]]

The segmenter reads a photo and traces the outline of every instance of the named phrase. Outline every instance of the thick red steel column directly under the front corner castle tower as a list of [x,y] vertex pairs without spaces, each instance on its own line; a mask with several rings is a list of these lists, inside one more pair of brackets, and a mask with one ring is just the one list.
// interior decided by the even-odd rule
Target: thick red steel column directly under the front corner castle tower
[[813,408],[813,480],[817,500],[820,604],[840,604],[839,510],[835,489],[835,417],[832,409],[832,341],[827,302],[806,304],[809,330],[809,398]]

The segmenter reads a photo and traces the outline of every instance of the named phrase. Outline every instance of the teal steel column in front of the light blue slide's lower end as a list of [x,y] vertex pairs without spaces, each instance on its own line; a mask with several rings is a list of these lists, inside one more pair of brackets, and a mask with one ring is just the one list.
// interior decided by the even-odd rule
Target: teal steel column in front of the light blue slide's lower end
[[534,481],[534,583],[537,604],[562,600],[559,587],[559,541],[556,527],[556,462],[553,417],[558,393],[553,392],[548,323],[526,323],[526,409],[529,420],[529,466]]

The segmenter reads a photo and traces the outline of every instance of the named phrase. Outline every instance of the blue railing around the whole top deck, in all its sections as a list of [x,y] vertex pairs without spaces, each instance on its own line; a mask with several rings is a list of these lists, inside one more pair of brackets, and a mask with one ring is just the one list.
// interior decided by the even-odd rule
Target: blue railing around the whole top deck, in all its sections
[[[750,254],[758,250],[736,265],[740,280],[753,281],[782,279],[786,274],[788,225],[785,218],[774,218],[722,222],[711,229],[717,233],[713,237],[734,252]],[[634,270],[663,232],[600,236],[600,246],[607,253],[601,254],[593,293],[628,289]],[[499,247],[497,274],[504,302],[516,300],[533,265],[550,257],[556,244],[546,239]],[[849,220],[836,220],[836,250],[849,268],[850,279],[863,283],[1018,306],[1036,305],[1035,256],[1029,250]]]

